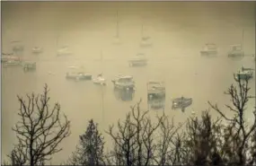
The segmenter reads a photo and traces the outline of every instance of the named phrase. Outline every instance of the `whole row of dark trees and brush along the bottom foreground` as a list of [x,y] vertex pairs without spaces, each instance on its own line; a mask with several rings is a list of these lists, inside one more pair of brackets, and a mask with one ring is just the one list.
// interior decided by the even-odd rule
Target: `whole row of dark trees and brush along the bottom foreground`
[[[208,102],[211,110],[202,112],[200,118],[189,118],[186,124],[174,126],[173,119],[158,116],[155,123],[148,111],[142,111],[140,102],[131,107],[124,121],[110,126],[107,134],[112,138],[112,149],[104,150],[104,138],[98,125],[91,119],[80,143],[70,159],[70,165],[246,165],[256,164],[255,108],[247,109],[252,100],[248,80],[234,79],[226,95],[232,101],[221,110]],[[18,96],[21,104],[21,120],[13,131],[18,143],[8,155],[9,165],[43,165],[61,148],[59,143],[70,134],[70,122],[66,116],[61,120],[60,105],[49,109],[49,89],[42,95]],[[212,118],[210,111],[219,113]],[[225,112],[231,111],[234,117]],[[253,113],[249,124],[244,114]]]

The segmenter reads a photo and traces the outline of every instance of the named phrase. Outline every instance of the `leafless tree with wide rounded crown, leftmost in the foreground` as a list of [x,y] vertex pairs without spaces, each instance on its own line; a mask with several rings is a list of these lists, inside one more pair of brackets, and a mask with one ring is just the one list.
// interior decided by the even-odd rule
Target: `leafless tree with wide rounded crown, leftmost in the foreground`
[[43,165],[51,159],[52,154],[62,150],[58,144],[70,135],[70,122],[64,115],[64,123],[61,123],[58,103],[52,109],[49,108],[48,94],[46,84],[42,94],[27,95],[27,101],[18,96],[21,105],[18,115],[21,120],[13,127],[19,140],[11,154],[13,162]]

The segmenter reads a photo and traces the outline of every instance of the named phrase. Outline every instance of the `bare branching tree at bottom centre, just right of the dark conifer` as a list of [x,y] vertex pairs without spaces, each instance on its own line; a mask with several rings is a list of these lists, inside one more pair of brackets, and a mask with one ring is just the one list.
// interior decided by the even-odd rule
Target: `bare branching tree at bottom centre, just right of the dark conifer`
[[163,116],[154,124],[147,111],[140,110],[140,102],[128,113],[123,124],[118,122],[118,132],[113,126],[107,132],[116,144],[114,154],[121,165],[150,165],[154,162],[154,132],[160,126]]

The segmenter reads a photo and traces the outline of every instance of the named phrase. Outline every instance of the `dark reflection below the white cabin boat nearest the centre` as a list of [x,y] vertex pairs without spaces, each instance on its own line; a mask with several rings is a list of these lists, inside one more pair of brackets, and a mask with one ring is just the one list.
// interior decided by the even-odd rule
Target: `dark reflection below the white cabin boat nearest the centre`
[[120,90],[118,88],[114,88],[114,94],[117,100],[130,101],[134,98],[135,90]]

